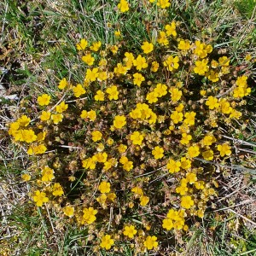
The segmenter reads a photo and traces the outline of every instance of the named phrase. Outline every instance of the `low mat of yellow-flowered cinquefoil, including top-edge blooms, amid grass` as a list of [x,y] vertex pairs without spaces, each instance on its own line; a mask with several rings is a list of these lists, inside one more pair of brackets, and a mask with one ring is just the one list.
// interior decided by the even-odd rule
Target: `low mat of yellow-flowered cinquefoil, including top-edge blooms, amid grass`
[[81,38],[84,80],[60,78],[55,96],[37,96],[38,116],[23,109],[9,125],[30,155],[22,178],[34,205],[87,229],[95,250],[157,251],[166,232],[185,235],[218,197],[215,166],[234,154],[219,128],[241,129],[251,88],[229,55],[182,38],[180,26],[166,22],[139,48],[122,41],[121,27],[115,44]]

